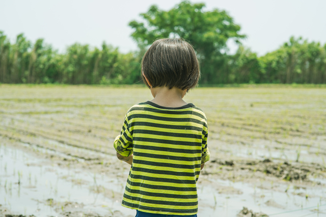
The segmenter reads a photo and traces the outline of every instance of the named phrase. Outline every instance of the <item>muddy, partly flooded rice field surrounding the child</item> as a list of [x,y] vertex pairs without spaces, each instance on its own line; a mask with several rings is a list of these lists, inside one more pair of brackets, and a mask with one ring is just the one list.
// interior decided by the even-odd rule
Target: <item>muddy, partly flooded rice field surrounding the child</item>
[[[144,87],[0,85],[0,216],[135,216],[113,140]],[[197,88],[198,216],[326,216],[326,88]],[[246,207],[246,208],[243,208]],[[264,215],[265,214],[265,215]]]

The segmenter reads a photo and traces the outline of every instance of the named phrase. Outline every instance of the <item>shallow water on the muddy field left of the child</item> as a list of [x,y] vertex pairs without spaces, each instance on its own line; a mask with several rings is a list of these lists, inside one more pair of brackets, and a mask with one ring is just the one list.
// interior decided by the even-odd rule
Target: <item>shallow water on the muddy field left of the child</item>
[[[12,214],[60,216],[65,204],[70,203],[75,208],[83,207],[84,211],[100,215],[117,210],[135,215],[134,210],[120,205],[121,200],[94,191],[105,186],[113,194],[123,193],[125,183],[107,174],[48,165],[34,154],[4,145],[0,145],[0,174],[0,204]],[[61,207],[58,204],[62,204]]]

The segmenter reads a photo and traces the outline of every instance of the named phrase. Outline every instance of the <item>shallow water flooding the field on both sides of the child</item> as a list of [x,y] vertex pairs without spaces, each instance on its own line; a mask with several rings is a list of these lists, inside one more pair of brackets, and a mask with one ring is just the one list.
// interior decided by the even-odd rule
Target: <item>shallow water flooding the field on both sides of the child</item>
[[[38,146],[21,145],[38,154],[55,154],[75,159]],[[92,157],[113,157],[70,148]],[[76,160],[84,162],[84,159]],[[128,171],[121,173],[126,177]],[[284,182],[275,187],[264,187],[259,180],[255,185],[207,177],[202,175],[200,179],[203,182],[198,184],[199,216],[236,216],[242,207],[277,217],[326,216],[326,189],[322,185],[298,187],[291,182]],[[62,216],[66,209],[73,206],[74,210],[80,208],[83,212],[99,215],[120,211],[119,216],[134,216],[134,210],[120,205],[125,181],[122,176],[113,177],[103,172],[90,173],[82,168],[59,167],[49,159],[38,158],[35,153],[0,145],[0,204],[10,209],[12,214]],[[314,181],[324,183],[324,180]]]

